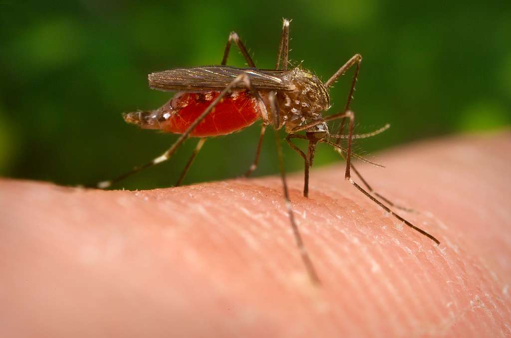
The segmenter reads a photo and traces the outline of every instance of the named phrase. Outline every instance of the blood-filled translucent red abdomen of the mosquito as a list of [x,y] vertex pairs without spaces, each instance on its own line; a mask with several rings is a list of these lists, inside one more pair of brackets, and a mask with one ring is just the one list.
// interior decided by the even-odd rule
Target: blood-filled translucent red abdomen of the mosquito
[[[219,94],[218,91],[176,94],[157,111],[159,129],[182,134]],[[204,137],[233,133],[261,118],[262,108],[249,91],[233,91],[220,100],[190,135]]]

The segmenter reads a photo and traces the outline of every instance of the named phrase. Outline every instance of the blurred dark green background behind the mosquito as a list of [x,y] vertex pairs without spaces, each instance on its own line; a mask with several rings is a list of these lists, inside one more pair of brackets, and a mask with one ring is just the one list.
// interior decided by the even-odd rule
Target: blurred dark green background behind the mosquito
[[[357,142],[360,152],[511,123],[509,1],[2,0],[0,175],[79,184],[151,160],[176,136],[139,130],[121,116],[172,95],[150,90],[147,74],[218,64],[233,30],[258,67],[271,68],[282,17],[293,19],[291,59],[323,80],[362,54],[352,105],[357,131],[391,129]],[[229,64],[243,66],[233,52]],[[352,74],[331,91],[329,113],[343,107]],[[185,183],[245,172],[259,125],[206,142]],[[116,187],[172,185],[195,143]],[[301,159],[283,146],[288,171],[301,170]],[[274,147],[267,133],[256,176],[277,172]],[[315,165],[338,160],[323,146]]]

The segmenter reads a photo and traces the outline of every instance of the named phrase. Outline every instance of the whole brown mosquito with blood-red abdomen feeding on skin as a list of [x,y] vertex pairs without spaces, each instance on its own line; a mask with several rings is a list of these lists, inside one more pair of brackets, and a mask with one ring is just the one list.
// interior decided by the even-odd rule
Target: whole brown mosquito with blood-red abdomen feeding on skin
[[[327,143],[334,147],[345,159],[344,177],[346,180],[399,221],[432,239],[438,245],[439,241],[434,236],[414,226],[380,202],[379,199],[390,207],[400,208],[374,191],[351,161],[352,156],[361,158],[352,153],[353,139],[370,137],[388,128],[387,125],[372,133],[360,135],[353,133],[355,114],[350,109],[350,104],[360,70],[361,55],[355,54],[324,83],[314,76],[311,71],[301,66],[288,69],[289,25],[290,20],[284,19],[275,69],[257,68],[238,34],[231,32],[220,65],[175,68],[149,74],[149,86],[152,89],[177,91],[177,93],[171,100],[156,110],[125,113],[124,120],[144,129],[157,129],[180,134],[180,136],[164,154],[156,157],[151,162],[137,166],[112,180],[99,182],[97,187],[108,188],[113,183],[144,168],[167,161],[186,139],[197,137],[199,141],[179,177],[176,184],[179,185],[208,137],[240,131],[262,119],[263,123],[255,159],[245,176],[250,176],[257,168],[264,133],[268,126],[273,127],[290,225],[301,259],[313,283],[319,283],[319,278],[301,238],[291,207],[280,138],[277,133],[282,128],[285,128],[287,132],[286,141],[289,146],[304,159],[305,197],[309,195],[309,168],[313,164],[316,145]],[[233,43],[238,46],[249,67],[236,68],[226,65],[230,47]],[[355,73],[344,109],[339,113],[322,116],[322,112],[330,109],[329,88],[353,66],[355,66]],[[327,122],[335,119],[341,119],[339,132],[338,134],[330,134]],[[348,133],[344,135],[343,131],[346,125]],[[299,132],[305,132],[305,135],[298,134]],[[302,151],[292,142],[295,138],[308,141],[307,152]],[[342,139],[346,140],[346,147],[340,145]],[[362,181],[365,189],[351,178],[351,170]]]

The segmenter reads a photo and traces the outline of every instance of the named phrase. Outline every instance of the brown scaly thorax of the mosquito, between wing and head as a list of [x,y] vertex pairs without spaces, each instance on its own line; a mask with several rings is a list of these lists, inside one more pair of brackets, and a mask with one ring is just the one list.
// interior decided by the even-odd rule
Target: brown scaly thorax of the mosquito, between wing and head
[[294,90],[277,92],[280,125],[286,130],[321,118],[321,112],[330,108],[330,95],[323,83],[310,71],[296,67],[289,72]]

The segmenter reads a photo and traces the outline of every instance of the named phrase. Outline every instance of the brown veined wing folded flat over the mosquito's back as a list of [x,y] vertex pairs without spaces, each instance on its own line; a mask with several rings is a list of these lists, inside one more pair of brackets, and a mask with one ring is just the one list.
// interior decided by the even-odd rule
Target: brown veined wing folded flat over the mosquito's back
[[[267,90],[293,90],[289,70],[260,70],[226,66],[176,68],[148,76],[149,86],[163,91],[222,90],[238,75],[246,73],[253,86]],[[238,88],[245,88],[240,83]]]

